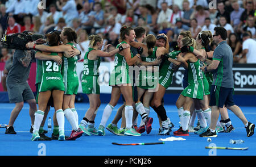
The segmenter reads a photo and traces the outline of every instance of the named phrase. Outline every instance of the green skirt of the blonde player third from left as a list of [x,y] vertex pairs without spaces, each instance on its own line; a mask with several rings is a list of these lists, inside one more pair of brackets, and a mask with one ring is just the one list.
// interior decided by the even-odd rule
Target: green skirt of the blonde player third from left
[[98,76],[82,76],[82,93],[100,94]]

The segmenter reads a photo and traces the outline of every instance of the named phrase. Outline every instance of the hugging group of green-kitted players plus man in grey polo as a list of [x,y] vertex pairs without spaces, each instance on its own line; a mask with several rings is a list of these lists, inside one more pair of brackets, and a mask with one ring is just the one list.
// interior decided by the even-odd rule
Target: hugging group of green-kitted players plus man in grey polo
[[[246,120],[240,107],[233,102],[233,56],[229,56],[232,50],[225,41],[225,28],[214,28],[214,35],[210,31],[201,31],[196,39],[192,38],[190,31],[183,31],[171,52],[166,35],[146,35],[142,27],[133,29],[123,26],[119,44],[112,51],[109,45],[102,49],[104,40],[100,35],[91,35],[89,49],[84,56],[81,82],[82,92],[88,96],[90,107],[80,123],[75,97],[79,87],[76,64],[81,52],[74,45],[76,39],[72,28],[64,28],[61,32],[48,32],[46,44],[31,42],[26,45],[36,50],[37,59],[38,110],[32,122],[32,141],[76,140],[82,134],[104,136],[105,128],[119,136],[141,136],[145,131],[148,134],[153,122],[149,116],[150,107],[159,118],[158,135],[170,135],[174,124],[167,116],[163,97],[171,85],[172,75],[181,66],[185,68],[184,90],[176,101],[180,125],[173,132],[175,136],[189,136],[189,132],[194,132],[200,137],[217,137],[218,132],[233,131],[227,108],[241,119],[247,137],[254,134],[254,124]],[[98,68],[101,57],[112,56],[115,59],[109,80],[111,99],[104,108],[97,130],[94,119],[101,105]],[[106,126],[121,95],[123,105],[118,108],[112,123]],[[52,136],[47,137],[43,126],[50,107],[55,108],[54,126]],[[138,115],[141,115],[139,126]],[[196,116],[198,126],[194,128]],[[65,118],[72,126],[68,137],[64,133]],[[118,128],[121,119],[121,127]]]

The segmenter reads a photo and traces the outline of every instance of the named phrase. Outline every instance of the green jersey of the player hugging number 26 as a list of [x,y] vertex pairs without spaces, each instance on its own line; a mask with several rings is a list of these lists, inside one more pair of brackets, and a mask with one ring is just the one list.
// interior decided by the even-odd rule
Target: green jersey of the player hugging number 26
[[[75,45],[72,43],[67,43],[72,45],[74,48]],[[63,56],[63,67],[61,68],[61,74],[63,76],[63,82],[73,82],[78,81],[77,73],[76,73],[76,64],[78,57],[64,57]]]

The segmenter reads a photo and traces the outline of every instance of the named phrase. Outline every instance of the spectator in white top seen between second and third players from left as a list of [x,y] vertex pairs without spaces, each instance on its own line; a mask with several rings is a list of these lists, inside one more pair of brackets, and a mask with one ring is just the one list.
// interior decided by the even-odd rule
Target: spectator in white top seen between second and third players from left
[[81,51],[81,58],[80,61],[84,60],[84,55],[87,52],[88,48],[89,48],[89,37],[88,34],[86,32],[86,30],[79,30],[77,32],[77,41],[78,43],[76,44],[76,48],[79,49],[79,51]]

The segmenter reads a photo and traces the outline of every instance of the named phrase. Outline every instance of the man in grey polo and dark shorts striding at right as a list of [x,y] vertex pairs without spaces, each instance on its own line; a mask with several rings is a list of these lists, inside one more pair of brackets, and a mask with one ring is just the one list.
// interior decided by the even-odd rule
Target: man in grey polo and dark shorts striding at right
[[253,123],[250,123],[243,115],[240,107],[235,105],[233,101],[234,92],[234,78],[233,78],[233,52],[229,45],[226,43],[227,31],[223,27],[215,27],[213,39],[217,48],[213,53],[213,60],[205,60],[199,56],[201,61],[209,66],[203,66],[201,69],[204,72],[211,71],[213,73],[214,80],[210,89],[210,106],[212,106],[210,127],[204,133],[199,135],[200,137],[217,137],[216,123],[218,116],[220,115],[220,108],[224,105],[234,112],[239,119],[242,120],[245,125],[247,137],[254,134]]

